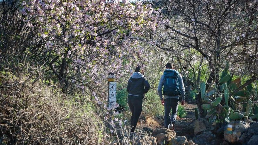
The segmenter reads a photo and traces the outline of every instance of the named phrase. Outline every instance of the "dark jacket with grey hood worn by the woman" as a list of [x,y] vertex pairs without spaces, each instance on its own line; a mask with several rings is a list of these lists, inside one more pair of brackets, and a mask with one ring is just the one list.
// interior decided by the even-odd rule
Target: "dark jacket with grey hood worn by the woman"
[[142,97],[150,89],[150,84],[143,74],[140,72],[134,72],[133,75],[128,80],[127,92],[129,93],[128,97]]

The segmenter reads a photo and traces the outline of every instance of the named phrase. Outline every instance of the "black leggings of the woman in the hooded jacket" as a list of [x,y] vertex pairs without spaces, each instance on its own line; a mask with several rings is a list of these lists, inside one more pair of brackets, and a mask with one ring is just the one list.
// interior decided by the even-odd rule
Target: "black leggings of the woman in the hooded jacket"
[[134,132],[135,127],[138,123],[138,119],[142,112],[142,98],[130,98],[128,97],[128,105],[132,112],[131,116],[131,132]]

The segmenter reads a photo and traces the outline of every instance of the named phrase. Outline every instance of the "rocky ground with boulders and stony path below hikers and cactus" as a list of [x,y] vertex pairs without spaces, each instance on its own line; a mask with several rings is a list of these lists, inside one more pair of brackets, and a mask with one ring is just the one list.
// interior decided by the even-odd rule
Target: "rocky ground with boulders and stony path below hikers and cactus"
[[[187,115],[177,118],[174,131],[164,128],[163,117],[139,120],[136,133],[122,141],[124,144],[141,145],[258,145],[258,123],[233,121],[233,131],[227,131],[228,124],[207,122],[195,118],[194,101],[186,102]],[[130,139],[129,139],[130,138]]]

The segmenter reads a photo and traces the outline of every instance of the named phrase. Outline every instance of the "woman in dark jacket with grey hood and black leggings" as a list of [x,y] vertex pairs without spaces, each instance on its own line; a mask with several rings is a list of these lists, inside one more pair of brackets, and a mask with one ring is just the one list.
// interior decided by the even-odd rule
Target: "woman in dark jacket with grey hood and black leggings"
[[138,123],[138,119],[142,112],[142,99],[145,93],[150,89],[150,84],[144,77],[144,72],[141,70],[140,66],[137,66],[135,72],[128,80],[127,92],[128,95],[128,105],[132,112],[131,116],[131,132],[134,132],[135,127]]

